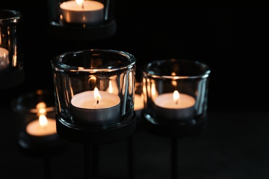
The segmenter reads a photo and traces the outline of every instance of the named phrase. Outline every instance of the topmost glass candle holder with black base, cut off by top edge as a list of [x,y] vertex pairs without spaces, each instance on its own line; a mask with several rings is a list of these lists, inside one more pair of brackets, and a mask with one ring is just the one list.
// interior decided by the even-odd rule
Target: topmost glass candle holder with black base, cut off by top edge
[[106,39],[116,32],[114,1],[48,0],[52,35],[73,40]]

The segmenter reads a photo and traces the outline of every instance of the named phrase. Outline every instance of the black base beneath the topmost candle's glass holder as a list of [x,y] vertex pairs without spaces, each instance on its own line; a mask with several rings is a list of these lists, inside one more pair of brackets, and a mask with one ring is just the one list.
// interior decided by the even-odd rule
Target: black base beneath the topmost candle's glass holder
[[76,25],[61,25],[59,23],[51,23],[49,32],[52,36],[59,39],[68,39],[73,41],[97,41],[101,39],[107,39],[116,32],[115,21],[110,21],[108,23],[82,27]]

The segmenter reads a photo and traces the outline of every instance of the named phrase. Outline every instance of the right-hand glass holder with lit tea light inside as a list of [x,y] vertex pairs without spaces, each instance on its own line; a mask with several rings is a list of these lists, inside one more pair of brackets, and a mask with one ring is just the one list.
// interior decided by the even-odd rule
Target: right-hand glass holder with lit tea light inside
[[210,68],[199,61],[165,59],[143,68],[146,120],[170,126],[206,120]]

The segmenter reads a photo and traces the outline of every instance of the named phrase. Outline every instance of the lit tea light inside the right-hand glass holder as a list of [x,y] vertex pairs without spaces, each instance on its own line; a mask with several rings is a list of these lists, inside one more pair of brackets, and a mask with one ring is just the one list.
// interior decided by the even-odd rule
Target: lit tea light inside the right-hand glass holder
[[195,98],[177,90],[157,96],[154,103],[157,117],[163,120],[188,120],[195,113]]

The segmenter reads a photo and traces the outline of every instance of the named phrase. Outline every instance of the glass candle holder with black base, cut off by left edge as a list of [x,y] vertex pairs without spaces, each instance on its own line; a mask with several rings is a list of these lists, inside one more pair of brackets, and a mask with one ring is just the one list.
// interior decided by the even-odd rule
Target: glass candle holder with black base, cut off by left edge
[[14,87],[24,81],[21,28],[20,12],[0,10],[0,89]]

